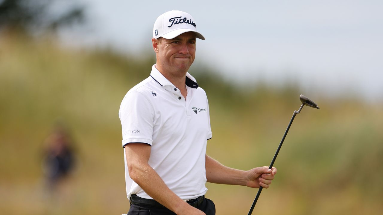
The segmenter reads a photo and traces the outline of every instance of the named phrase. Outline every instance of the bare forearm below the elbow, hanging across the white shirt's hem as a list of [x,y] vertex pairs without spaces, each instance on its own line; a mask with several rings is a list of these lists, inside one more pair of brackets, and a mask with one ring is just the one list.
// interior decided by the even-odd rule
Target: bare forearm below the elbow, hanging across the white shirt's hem
[[131,178],[154,200],[178,214],[180,208],[189,207],[166,186],[165,182],[149,165],[141,165],[129,171]]

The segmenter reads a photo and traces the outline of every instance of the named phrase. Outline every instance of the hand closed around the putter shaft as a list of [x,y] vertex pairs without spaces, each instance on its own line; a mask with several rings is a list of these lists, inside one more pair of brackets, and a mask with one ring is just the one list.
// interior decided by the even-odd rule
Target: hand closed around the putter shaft
[[271,184],[271,180],[274,179],[275,174],[277,174],[277,168],[272,167],[271,169],[268,166],[257,167],[250,169],[245,173],[246,186],[253,188],[268,188]]

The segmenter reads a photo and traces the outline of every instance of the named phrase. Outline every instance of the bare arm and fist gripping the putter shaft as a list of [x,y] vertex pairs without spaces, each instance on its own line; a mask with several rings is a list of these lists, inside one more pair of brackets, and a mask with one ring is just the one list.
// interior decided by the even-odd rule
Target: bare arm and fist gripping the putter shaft
[[268,188],[277,174],[275,167],[268,169],[268,166],[263,166],[244,171],[224,166],[208,155],[205,158],[206,179],[211,183]]

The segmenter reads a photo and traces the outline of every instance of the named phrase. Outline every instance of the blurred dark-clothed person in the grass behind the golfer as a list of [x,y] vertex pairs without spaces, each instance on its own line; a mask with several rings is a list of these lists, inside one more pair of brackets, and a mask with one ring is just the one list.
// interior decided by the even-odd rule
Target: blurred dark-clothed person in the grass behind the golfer
[[43,171],[47,189],[53,193],[74,169],[74,143],[67,127],[57,122],[45,139],[44,145]]

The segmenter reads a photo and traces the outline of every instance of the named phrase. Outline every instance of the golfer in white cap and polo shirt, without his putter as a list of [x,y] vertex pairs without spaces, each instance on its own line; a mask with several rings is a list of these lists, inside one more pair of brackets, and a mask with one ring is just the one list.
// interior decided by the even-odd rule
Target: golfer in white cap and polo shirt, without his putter
[[156,64],[124,97],[123,132],[128,215],[213,215],[206,181],[268,188],[277,169],[231,169],[206,155],[212,137],[208,100],[187,72],[196,38],[205,40],[190,14],[168,11],[154,23]]

